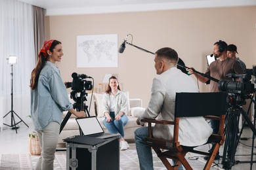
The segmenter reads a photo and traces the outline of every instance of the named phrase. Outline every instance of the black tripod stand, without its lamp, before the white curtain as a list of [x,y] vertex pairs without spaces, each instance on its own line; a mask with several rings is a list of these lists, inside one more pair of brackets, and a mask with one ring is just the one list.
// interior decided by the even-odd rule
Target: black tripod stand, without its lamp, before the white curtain
[[[19,127],[16,126],[17,124],[20,124],[20,122],[23,122],[26,126],[28,126],[28,125],[13,110],[13,65],[11,65],[11,67],[12,67],[12,72],[11,72],[11,78],[12,78],[12,80],[11,80],[11,84],[12,84],[12,88],[11,88],[11,110],[7,114],[5,114],[5,116],[3,116],[3,118],[5,118],[9,113],[11,113],[11,125],[8,125],[8,124],[4,124],[4,125],[12,127],[12,129],[15,129],[16,133],[17,133],[17,129],[19,128]],[[20,119],[20,122],[17,122],[17,123],[15,122],[14,114]]]

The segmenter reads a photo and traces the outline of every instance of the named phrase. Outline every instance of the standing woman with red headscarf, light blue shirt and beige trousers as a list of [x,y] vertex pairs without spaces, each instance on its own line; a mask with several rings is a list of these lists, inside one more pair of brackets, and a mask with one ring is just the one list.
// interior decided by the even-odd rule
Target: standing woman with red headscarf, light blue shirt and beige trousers
[[41,146],[41,157],[35,169],[53,169],[54,154],[60,133],[62,111],[68,110],[78,118],[85,112],[77,112],[68,99],[66,86],[54,65],[63,56],[60,41],[45,41],[38,54],[38,61],[31,73],[31,116]]

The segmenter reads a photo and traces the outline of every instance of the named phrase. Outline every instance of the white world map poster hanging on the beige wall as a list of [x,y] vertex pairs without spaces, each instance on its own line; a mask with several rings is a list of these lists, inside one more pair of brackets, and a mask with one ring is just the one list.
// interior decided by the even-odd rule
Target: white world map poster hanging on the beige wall
[[77,36],[77,67],[118,67],[117,34]]

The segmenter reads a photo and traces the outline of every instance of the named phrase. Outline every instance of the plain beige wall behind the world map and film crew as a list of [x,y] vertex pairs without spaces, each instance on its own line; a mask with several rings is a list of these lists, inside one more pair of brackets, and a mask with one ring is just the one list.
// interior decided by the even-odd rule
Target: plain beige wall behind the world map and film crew
[[[156,75],[154,56],[127,45],[125,52],[118,54],[117,68],[77,68],[77,35],[117,34],[119,46],[131,33],[133,44],[152,52],[169,46],[177,50],[186,66],[204,72],[205,55],[212,53],[213,43],[219,39],[238,46],[238,56],[247,68],[256,65],[255,24],[256,7],[47,16],[47,37],[62,42],[64,57],[57,65],[64,80],[72,81],[74,72],[93,76],[96,90],[105,73],[118,74],[123,91],[129,91],[130,98],[141,98],[146,107]],[[201,92],[209,88],[198,84]]]

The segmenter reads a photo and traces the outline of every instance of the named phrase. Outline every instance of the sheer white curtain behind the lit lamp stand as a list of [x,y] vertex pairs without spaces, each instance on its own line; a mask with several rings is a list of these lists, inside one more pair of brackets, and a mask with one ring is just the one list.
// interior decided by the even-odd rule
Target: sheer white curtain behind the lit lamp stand
[[[13,65],[7,64],[10,55],[17,56]],[[11,125],[11,87],[13,84],[13,110],[24,120],[30,118],[30,74],[35,67],[33,37],[33,7],[15,0],[0,1],[0,128],[3,123]],[[15,122],[20,119],[14,114]],[[21,123],[23,124],[23,123]],[[20,126],[21,124],[18,124]]]

